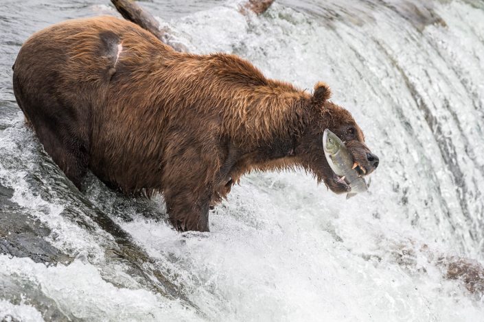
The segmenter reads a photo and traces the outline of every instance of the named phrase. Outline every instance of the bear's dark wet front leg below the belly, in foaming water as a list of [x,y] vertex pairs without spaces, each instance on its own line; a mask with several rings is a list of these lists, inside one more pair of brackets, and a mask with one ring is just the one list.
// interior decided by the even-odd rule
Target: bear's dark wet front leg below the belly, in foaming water
[[[208,190],[208,189],[207,189]],[[165,194],[172,225],[180,232],[209,232],[210,196],[194,190],[171,190]]]

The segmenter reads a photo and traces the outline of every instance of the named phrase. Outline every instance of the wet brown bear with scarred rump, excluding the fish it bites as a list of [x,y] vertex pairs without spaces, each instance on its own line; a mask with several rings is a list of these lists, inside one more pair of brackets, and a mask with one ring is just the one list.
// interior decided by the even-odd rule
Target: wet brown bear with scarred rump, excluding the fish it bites
[[163,193],[178,230],[208,232],[209,208],[253,169],[300,167],[349,191],[325,159],[326,128],[362,175],[378,166],[324,83],[310,95],[236,55],[178,53],[111,16],[37,32],[13,69],[27,123],[78,188],[90,169],[124,193]]

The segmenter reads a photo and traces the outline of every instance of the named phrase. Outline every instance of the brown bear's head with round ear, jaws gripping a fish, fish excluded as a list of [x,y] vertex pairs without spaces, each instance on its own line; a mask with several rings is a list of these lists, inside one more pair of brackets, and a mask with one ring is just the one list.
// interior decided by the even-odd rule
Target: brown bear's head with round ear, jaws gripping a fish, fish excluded
[[350,190],[349,185],[332,171],[325,158],[324,130],[330,129],[341,138],[354,162],[358,164],[356,171],[360,175],[365,176],[373,172],[379,160],[365,145],[365,136],[352,114],[332,101],[328,101],[330,97],[331,90],[327,84],[319,82],[314,86],[310,103],[312,117],[308,127],[301,134],[298,154],[303,166],[314,173],[319,182],[324,182],[334,193],[347,193]]

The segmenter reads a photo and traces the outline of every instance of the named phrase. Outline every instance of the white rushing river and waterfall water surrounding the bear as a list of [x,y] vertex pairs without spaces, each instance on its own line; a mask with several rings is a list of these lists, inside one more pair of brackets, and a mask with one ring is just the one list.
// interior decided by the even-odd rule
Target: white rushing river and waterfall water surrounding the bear
[[252,173],[174,232],[163,198],[80,193],[12,92],[36,30],[117,13],[102,0],[0,3],[0,321],[484,321],[437,258],[484,264],[484,3],[479,0],[141,3],[190,51],[269,77],[323,80],[380,157],[349,200],[299,171]]

